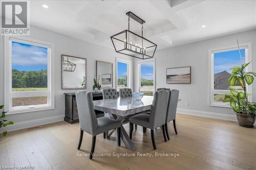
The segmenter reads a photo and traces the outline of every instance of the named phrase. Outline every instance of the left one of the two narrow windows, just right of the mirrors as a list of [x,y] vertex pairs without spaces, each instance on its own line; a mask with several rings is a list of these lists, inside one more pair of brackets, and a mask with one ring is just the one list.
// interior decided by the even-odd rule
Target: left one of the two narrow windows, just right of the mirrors
[[116,75],[117,75],[117,90],[120,88],[130,88],[130,65],[131,61],[117,59]]

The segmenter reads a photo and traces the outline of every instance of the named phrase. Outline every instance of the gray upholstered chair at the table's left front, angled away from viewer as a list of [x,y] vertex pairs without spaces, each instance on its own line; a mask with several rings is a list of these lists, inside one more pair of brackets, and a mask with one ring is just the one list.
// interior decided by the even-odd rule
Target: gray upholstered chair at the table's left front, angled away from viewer
[[93,104],[93,95],[86,90],[76,92],[76,103],[80,123],[80,138],[77,149],[79,150],[82,143],[83,131],[92,135],[92,147],[90,159],[93,158],[95,149],[96,135],[105,131],[117,129],[118,145],[120,146],[120,127],[121,123],[108,117],[96,118]]

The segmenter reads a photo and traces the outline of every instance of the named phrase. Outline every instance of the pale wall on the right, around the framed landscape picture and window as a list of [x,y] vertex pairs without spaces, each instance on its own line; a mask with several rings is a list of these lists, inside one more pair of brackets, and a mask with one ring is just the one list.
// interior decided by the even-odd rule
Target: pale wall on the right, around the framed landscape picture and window
[[[180,112],[227,119],[234,118],[234,113],[230,108],[208,106],[208,50],[236,44],[237,39],[241,44],[245,42],[252,42],[252,68],[254,71],[256,71],[256,30],[252,30],[170,47],[164,50],[157,50],[155,53],[156,88],[168,87],[171,89],[180,90],[180,98],[182,99],[182,101],[178,104],[178,111]],[[191,84],[166,84],[166,68],[180,66],[191,66]],[[134,71],[138,71],[136,64],[134,64]],[[134,76],[134,87],[136,90],[138,90],[137,74]],[[252,88],[253,101],[256,101],[255,82],[256,81],[254,81]],[[189,103],[189,106],[185,106],[186,102]]]

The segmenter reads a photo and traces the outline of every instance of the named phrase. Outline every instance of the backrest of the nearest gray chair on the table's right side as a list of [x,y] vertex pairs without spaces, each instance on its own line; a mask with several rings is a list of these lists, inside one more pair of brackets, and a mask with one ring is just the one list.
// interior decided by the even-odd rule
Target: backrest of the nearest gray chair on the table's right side
[[159,90],[155,92],[152,103],[152,112],[150,114],[150,124],[153,125],[153,128],[157,128],[165,124],[168,100],[169,91]]

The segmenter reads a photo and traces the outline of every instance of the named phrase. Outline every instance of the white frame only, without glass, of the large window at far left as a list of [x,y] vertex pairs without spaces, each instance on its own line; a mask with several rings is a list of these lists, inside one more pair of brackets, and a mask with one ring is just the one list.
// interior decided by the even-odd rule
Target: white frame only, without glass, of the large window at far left
[[[48,48],[48,89],[47,91],[12,91],[12,41]],[[34,112],[54,109],[54,45],[21,36],[5,36],[5,111],[6,114]],[[47,104],[12,107],[12,98],[48,96]]]

